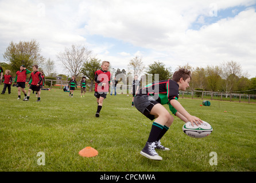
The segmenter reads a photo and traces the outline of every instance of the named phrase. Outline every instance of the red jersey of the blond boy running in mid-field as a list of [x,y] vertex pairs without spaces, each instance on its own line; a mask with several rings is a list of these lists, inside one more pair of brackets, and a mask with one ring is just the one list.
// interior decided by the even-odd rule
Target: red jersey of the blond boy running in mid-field
[[[95,72],[95,92],[108,92],[111,74],[109,71],[97,70]],[[105,86],[102,86],[106,83]]]

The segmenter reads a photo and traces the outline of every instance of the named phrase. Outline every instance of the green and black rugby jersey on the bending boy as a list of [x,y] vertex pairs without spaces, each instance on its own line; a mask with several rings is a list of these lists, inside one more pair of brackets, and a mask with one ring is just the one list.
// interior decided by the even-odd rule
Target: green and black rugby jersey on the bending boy
[[170,100],[178,100],[179,98],[179,84],[172,79],[155,81],[140,89],[136,96],[150,95],[154,96],[155,100],[160,104],[169,104],[170,111],[175,114],[176,109],[170,105]]

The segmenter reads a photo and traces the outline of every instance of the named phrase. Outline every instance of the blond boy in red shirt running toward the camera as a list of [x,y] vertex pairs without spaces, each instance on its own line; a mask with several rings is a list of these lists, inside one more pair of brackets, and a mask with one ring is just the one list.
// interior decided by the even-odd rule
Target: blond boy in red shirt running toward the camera
[[102,109],[103,100],[107,98],[108,86],[110,82],[110,71],[107,71],[110,66],[110,62],[103,61],[102,69],[95,72],[95,93],[97,98],[98,108],[95,117],[99,117],[100,110]]

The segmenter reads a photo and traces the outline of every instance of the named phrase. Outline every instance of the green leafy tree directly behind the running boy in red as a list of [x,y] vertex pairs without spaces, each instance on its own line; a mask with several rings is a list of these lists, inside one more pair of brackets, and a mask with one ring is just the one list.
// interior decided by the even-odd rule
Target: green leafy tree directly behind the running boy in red
[[91,58],[84,62],[81,69],[81,73],[84,74],[91,81],[90,92],[92,91],[92,86],[94,85],[95,71],[99,70],[101,67],[100,59]]

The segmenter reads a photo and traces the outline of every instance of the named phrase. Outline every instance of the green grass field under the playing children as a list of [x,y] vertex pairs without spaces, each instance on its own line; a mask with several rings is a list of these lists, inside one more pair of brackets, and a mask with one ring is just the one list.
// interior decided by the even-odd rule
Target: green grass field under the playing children
[[[163,160],[153,161],[139,154],[152,121],[131,108],[131,95],[108,94],[100,117],[95,118],[92,92],[80,98],[76,90],[71,98],[60,89],[42,90],[41,102],[33,94],[25,102],[17,100],[16,87],[11,90],[10,95],[0,95],[2,172],[256,171],[256,104],[211,101],[211,106],[200,106],[201,100],[180,98],[189,113],[209,122],[214,130],[208,137],[191,138],[182,131],[184,122],[174,117],[161,140],[171,150],[158,150]],[[98,150],[98,156],[79,156],[86,146]],[[45,165],[37,164],[38,152],[45,154]],[[217,155],[213,156],[217,165],[210,165],[211,152]]]

